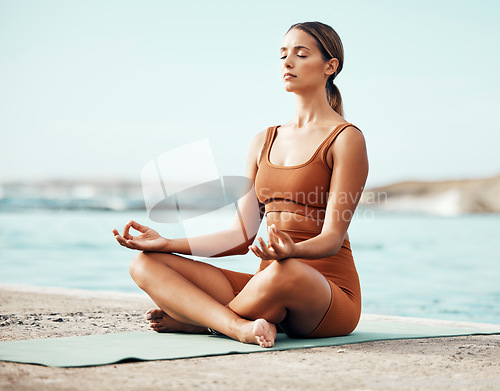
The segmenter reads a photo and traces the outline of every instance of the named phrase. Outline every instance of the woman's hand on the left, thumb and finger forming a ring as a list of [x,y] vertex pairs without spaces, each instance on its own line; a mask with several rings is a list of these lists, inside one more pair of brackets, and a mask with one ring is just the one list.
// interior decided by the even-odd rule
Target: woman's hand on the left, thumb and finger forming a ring
[[[129,233],[130,228],[134,228],[141,232],[141,234],[132,236]],[[124,247],[141,251],[168,252],[168,239],[162,237],[154,229],[141,225],[134,220],[130,220],[125,227],[123,227],[123,235],[120,235],[116,229],[113,229],[112,232],[118,243]]]

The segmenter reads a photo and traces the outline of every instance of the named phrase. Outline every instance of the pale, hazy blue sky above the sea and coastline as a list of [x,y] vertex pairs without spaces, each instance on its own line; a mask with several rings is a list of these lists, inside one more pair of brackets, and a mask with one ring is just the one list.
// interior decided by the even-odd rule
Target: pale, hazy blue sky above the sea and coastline
[[[208,139],[221,175],[288,122],[290,25],[340,35],[367,186],[500,174],[496,1],[0,0],[0,181],[130,180]],[[175,169],[182,169],[182,164]]]

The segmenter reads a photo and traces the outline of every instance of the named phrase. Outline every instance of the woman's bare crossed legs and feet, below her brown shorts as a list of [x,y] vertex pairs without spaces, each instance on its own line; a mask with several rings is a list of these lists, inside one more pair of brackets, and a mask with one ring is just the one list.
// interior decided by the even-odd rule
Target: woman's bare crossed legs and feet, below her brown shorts
[[153,330],[204,333],[210,327],[262,347],[274,345],[276,324],[292,335],[310,334],[331,300],[325,277],[293,258],[272,262],[237,296],[216,267],[170,253],[139,253],[130,275],[159,307],[146,313]]

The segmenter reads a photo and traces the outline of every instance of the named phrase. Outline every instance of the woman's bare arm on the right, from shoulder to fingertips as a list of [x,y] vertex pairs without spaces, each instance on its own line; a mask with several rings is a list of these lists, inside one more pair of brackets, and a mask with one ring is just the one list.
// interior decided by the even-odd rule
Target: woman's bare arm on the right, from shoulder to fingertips
[[335,255],[347,233],[368,176],[368,157],[363,135],[346,128],[330,149],[334,161],[328,204],[322,231],[314,238],[293,243],[290,236],[275,227],[269,230],[269,245],[250,249],[262,259],[319,259]]

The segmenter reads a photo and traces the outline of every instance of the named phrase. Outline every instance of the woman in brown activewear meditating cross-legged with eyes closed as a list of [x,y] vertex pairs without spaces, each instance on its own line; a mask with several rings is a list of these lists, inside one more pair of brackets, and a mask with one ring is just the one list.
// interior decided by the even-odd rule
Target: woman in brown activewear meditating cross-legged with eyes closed
[[[224,246],[237,240],[239,219],[229,230],[189,241],[163,238],[134,221],[123,235],[113,230],[122,246],[143,250],[130,273],[159,307],[146,313],[153,330],[217,331],[262,347],[274,345],[277,327],[308,338],[354,330],[361,297],[347,228],[368,160],[363,134],[344,120],[333,84],[342,64],[342,43],[330,26],[298,23],[286,33],[281,71],[285,90],[296,96],[296,113],[253,139],[246,175],[255,191],[239,201],[243,220],[257,202],[265,207],[268,243],[258,237],[252,244],[253,235],[240,246]],[[132,236],[131,227],[141,234]],[[193,243],[219,246],[219,255],[251,250],[260,267],[251,275],[176,255],[191,254]]]

